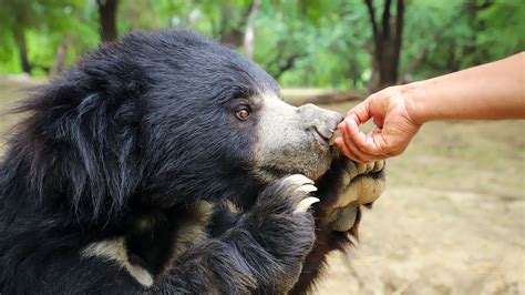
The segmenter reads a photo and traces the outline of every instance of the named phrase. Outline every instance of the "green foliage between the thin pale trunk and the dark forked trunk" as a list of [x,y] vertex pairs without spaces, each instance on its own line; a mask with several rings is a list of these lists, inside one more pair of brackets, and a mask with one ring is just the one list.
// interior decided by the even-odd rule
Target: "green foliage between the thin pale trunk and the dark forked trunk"
[[[260,13],[257,62],[284,85],[364,87],[371,30],[361,1],[285,1],[277,8]],[[294,57],[294,67],[280,74]]]

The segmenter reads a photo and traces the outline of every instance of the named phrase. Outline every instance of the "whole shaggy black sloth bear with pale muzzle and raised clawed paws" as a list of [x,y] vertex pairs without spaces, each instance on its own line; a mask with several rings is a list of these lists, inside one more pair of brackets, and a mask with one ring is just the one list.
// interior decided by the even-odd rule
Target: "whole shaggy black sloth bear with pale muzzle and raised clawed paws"
[[305,293],[384,184],[338,157],[342,115],[187,31],[103,44],[18,111],[1,294]]

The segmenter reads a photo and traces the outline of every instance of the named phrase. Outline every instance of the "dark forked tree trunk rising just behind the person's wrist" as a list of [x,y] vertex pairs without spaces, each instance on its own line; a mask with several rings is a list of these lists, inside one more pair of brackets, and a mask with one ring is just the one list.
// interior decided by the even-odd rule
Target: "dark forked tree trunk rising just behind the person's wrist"
[[403,34],[404,0],[397,1],[394,21],[391,21],[392,0],[384,0],[381,22],[375,19],[372,0],[364,0],[373,32],[372,78],[370,90],[378,91],[398,82],[399,60]]

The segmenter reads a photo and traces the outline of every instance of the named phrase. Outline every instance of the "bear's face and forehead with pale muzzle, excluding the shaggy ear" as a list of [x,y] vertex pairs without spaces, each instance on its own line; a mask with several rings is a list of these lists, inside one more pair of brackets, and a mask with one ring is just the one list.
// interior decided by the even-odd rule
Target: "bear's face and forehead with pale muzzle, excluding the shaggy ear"
[[289,105],[262,69],[194,33],[122,40],[121,47],[132,45],[133,61],[151,81],[142,126],[154,195],[240,202],[277,177],[315,180],[330,166],[339,113]]

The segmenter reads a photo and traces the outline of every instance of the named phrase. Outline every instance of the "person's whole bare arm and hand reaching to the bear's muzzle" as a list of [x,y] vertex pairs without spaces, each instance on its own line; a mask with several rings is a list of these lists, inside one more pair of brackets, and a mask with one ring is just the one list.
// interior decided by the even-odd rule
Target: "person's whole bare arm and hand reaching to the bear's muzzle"
[[[370,119],[377,129],[360,132]],[[344,155],[369,162],[402,153],[429,121],[505,119],[525,119],[524,52],[374,93],[348,112],[336,144]]]

